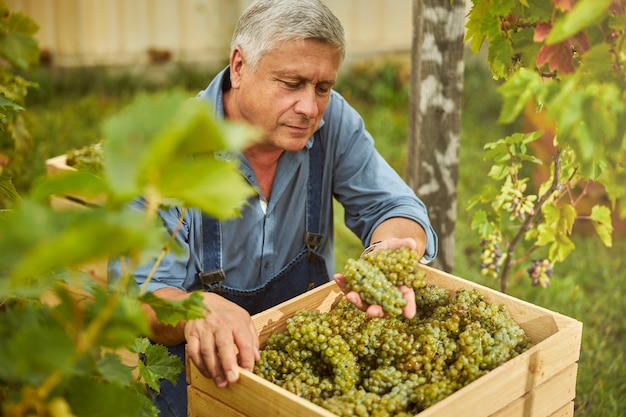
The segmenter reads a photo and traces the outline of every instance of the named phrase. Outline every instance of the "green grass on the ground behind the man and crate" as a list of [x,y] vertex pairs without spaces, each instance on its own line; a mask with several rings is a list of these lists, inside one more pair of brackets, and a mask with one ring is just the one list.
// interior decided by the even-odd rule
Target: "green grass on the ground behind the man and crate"
[[[138,91],[180,87],[190,96],[204,88],[215,69],[169,68],[159,77],[138,77],[105,69],[41,71],[41,89],[31,94],[26,119],[34,147],[21,175],[18,189],[26,192],[33,179],[45,172],[47,158],[72,148],[99,141],[99,123],[119,111]],[[408,73],[405,65],[365,63],[345,69],[337,89],[362,113],[376,138],[378,149],[399,172],[404,171],[408,104]],[[161,78],[165,82],[156,82]],[[469,230],[469,214],[464,207],[481,186],[488,166],[482,161],[485,142],[500,138],[518,126],[497,124],[498,95],[494,82],[483,66],[466,66],[463,123],[460,147],[458,198],[455,229],[454,273],[498,289],[493,279],[478,273],[479,245]],[[342,227],[342,211],[337,207],[336,260],[341,268],[348,257],[358,256],[360,243]],[[513,278],[509,293],[584,323],[576,393],[577,417],[626,416],[622,398],[626,394],[626,280],[623,254],[626,237],[615,238],[613,248],[605,248],[595,236],[574,236],[576,250],[559,264],[553,284],[547,289],[531,288],[522,275]]]

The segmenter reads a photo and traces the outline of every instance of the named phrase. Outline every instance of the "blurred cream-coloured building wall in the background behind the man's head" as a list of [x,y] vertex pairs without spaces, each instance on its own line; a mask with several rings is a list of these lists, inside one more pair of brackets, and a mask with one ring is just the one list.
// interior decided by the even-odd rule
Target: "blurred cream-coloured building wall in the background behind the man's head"
[[[40,26],[42,64],[217,64],[251,0],[7,0]],[[346,29],[347,59],[409,52],[412,0],[325,0]]]

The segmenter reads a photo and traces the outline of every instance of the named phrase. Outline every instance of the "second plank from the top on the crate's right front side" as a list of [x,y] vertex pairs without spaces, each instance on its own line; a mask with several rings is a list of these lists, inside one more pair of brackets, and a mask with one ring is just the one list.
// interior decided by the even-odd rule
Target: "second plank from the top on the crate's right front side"
[[574,401],[577,372],[578,364],[571,364],[490,417],[550,417],[554,415],[562,407]]

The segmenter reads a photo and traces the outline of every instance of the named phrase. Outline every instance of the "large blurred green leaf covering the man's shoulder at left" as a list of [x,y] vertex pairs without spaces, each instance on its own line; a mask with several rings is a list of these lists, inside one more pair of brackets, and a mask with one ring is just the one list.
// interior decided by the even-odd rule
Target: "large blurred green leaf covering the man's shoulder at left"
[[[225,176],[219,181],[212,177],[200,189],[193,179],[204,180],[205,170],[197,170],[185,177],[189,185],[178,182],[177,195],[169,195],[173,188],[161,190],[159,186],[167,186],[170,178],[177,177],[173,169],[183,170],[185,164],[194,163],[195,159],[207,161],[216,151],[241,149],[257,136],[256,129],[218,121],[207,101],[188,99],[183,92],[140,95],[124,112],[103,125],[105,177],[111,191],[121,200],[135,199],[146,189],[165,198],[194,195],[198,201],[209,200],[218,194],[213,191],[215,187],[227,187],[226,195],[242,202],[251,191],[239,185],[241,175],[235,170],[223,172]],[[195,164],[196,169],[199,166]],[[209,171],[206,175],[211,174]],[[198,191],[205,194],[197,195]],[[231,210],[229,214],[234,213]]]

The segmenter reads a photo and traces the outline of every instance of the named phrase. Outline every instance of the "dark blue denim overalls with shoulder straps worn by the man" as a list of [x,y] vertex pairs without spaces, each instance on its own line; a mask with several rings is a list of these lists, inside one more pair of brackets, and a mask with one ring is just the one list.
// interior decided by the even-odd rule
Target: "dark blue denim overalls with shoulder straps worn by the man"
[[[240,290],[223,285],[220,222],[202,215],[203,272],[198,279],[205,291],[213,291],[245,308],[250,315],[267,310],[329,281],[326,264],[318,252],[324,235],[321,234],[322,203],[322,149],[316,137],[309,150],[309,177],[306,201],[306,232],[304,245],[298,255],[264,286],[255,290]],[[185,363],[185,343],[168,346],[170,353]],[[161,382],[161,393],[155,396],[160,417],[187,416],[187,382],[185,371],[178,375],[175,385]]]

